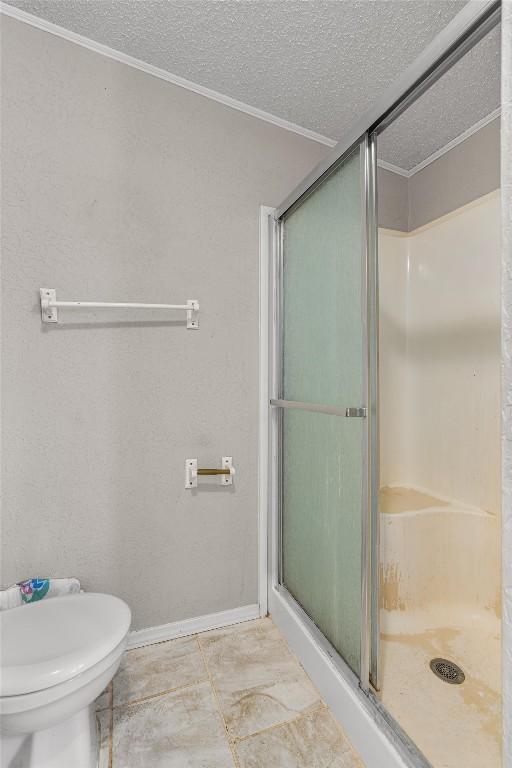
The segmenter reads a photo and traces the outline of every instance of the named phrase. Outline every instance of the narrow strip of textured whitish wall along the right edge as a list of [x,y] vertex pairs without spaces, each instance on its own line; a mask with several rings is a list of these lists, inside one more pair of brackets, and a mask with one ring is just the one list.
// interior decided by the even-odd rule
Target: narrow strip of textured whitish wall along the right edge
[[503,765],[512,768],[512,1],[502,7]]

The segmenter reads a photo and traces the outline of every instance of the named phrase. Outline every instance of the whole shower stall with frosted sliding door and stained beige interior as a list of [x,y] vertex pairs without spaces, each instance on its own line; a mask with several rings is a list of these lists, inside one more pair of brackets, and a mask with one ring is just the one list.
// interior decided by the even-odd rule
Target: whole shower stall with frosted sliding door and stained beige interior
[[501,764],[499,19],[461,12],[263,231],[270,612],[363,758],[351,701],[434,768]]

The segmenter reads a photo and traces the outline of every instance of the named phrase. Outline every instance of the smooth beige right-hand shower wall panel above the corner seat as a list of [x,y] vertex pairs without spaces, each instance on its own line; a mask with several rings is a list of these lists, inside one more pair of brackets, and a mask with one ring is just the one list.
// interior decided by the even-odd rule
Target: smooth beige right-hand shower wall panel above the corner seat
[[499,194],[409,241],[409,482],[499,510]]

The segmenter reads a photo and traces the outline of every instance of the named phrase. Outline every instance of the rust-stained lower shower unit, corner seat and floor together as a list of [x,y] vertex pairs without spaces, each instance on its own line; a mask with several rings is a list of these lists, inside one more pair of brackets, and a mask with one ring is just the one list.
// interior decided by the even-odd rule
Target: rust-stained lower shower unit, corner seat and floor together
[[[496,585],[485,584],[495,519],[413,489],[383,490],[379,697],[434,768],[499,768],[500,620]],[[460,666],[464,682],[436,677],[435,657]]]

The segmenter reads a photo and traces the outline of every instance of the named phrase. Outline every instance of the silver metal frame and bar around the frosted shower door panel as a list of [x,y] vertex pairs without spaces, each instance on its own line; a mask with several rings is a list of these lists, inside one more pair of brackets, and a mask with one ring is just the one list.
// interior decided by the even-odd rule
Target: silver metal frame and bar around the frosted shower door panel
[[[363,466],[362,483],[362,507],[364,509],[361,519],[361,636],[360,636],[360,675],[352,671],[340,653],[326,640],[321,631],[316,627],[308,614],[295,600],[283,583],[282,567],[282,505],[283,505],[283,487],[282,487],[282,431],[283,431],[283,409],[286,408],[304,408],[309,412],[320,411],[323,413],[333,413],[337,418],[340,408],[329,406],[316,406],[307,404],[289,403],[283,400],[282,392],[282,372],[283,372],[283,310],[282,310],[282,287],[283,287],[283,229],[284,213],[277,218],[273,217],[273,245],[272,253],[273,270],[270,277],[272,286],[272,362],[270,365],[272,381],[270,386],[270,435],[271,443],[277,448],[275,452],[271,477],[274,479],[275,487],[272,494],[272,506],[274,512],[272,519],[274,521],[275,539],[277,547],[274,547],[274,558],[271,569],[272,588],[279,592],[281,598],[285,600],[293,610],[302,617],[302,620],[309,626],[310,631],[315,635],[318,643],[322,644],[329,656],[333,659],[335,665],[342,670],[343,674],[351,677],[354,683],[357,683],[367,691],[370,683],[370,648],[372,641],[370,639],[370,600],[371,600],[371,576],[370,576],[370,534],[371,534],[371,515],[369,510],[375,506],[377,499],[375,489],[378,488],[378,434],[377,434],[377,318],[375,309],[376,302],[376,238],[372,232],[376,232],[376,200],[375,200],[375,168],[376,153],[375,140],[371,139],[366,132],[354,145],[347,148],[327,171],[313,184],[300,198],[292,204],[285,213],[290,213],[295,207],[300,205],[314,190],[316,190],[323,181],[332,173],[340,168],[344,161],[354,154],[360,153],[360,182],[361,182],[361,324],[363,338],[363,405],[366,408],[364,418],[365,429],[363,430],[361,461]],[[279,403],[279,404],[278,404]],[[359,403],[346,403],[343,408],[359,405]],[[375,519],[376,516],[375,516]],[[377,634],[375,635],[378,636]],[[375,656],[375,658],[377,658]],[[373,676],[372,676],[373,677]],[[366,681],[366,682],[364,682]]]

